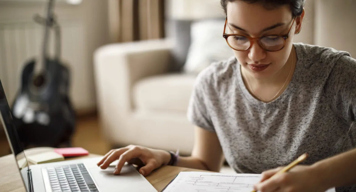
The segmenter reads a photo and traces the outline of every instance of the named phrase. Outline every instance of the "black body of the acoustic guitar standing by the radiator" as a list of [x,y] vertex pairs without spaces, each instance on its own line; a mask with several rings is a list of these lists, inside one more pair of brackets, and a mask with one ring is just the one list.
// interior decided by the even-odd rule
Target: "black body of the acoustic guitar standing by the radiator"
[[34,60],[25,65],[12,106],[20,140],[25,147],[70,146],[75,113],[68,96],[69,70],[51,59],[46,59],[40,76],[35,77],[34,69]]

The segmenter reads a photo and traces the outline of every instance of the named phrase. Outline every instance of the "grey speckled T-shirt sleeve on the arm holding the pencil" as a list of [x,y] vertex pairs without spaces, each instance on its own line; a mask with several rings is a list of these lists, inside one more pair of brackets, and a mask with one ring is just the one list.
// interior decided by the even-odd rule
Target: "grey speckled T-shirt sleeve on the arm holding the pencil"
[[325,94],[331,109],[346,122],[356,115],[356,60],[341,56],[335,63],[325,84]]

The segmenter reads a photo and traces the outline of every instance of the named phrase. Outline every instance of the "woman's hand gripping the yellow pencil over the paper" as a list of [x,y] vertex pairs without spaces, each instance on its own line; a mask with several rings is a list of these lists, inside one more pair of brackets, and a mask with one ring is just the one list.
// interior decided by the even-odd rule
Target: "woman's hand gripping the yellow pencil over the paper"
[[[298,165],[286,173],[272,177],[281,170],[278,167],[262,172],[261,181],[253,188],[260,192],[325,192],[320,175],[312,166]],[[272,177],[272,178],[271,178]]]

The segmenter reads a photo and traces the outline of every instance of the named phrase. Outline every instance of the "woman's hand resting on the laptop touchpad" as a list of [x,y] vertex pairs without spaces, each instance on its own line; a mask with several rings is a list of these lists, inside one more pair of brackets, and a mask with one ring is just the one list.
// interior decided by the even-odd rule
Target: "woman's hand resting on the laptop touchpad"
[[119,174],[125,162],[138,165],[139,172],[146,176],[156,168],[167,165],[171,159],[169,152],[156,150],[142,146],[129,145],[126,147],[112,149],[97,164],[101,169],[106,169],[113,161],[119,159],[115,166],[114,174]]

